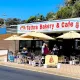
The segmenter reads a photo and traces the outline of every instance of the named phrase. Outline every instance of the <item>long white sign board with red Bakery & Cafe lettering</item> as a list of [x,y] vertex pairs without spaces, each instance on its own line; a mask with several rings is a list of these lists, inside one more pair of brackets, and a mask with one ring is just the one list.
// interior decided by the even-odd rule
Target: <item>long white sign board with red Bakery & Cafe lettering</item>
[[80,30],[80,18],[19,24],[17,27],[17,33],[26,33],[30,31],[49,33],[72,30]]

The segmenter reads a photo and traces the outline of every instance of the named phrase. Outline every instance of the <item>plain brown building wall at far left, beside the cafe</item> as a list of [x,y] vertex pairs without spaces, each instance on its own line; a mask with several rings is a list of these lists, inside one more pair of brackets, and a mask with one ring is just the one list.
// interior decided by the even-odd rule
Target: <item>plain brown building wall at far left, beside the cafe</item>
[[12,51],[13,53],[15,50],[19,50],[19,41],[0,41],[0,49],[7,49]]

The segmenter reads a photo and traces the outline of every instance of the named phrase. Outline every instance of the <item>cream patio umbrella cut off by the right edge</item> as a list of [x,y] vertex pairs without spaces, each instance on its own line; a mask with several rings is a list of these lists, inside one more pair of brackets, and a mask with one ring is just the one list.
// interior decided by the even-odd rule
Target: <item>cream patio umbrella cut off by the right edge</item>
[[67,33],[64,33],[61,36],[58,36],[57,38],[62,38],[62,39],[75,39],[75,38],[80,38],[80,34],[77,33],[76,31],[70,31]]

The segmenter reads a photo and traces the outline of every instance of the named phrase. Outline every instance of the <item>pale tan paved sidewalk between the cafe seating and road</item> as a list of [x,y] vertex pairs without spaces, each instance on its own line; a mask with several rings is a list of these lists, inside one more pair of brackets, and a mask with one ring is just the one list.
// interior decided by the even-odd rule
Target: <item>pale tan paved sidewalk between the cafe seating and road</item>
[[33,67],[28,64],[17,64],[17,63],[11,63],[11,62],[0,62],[0,65],[80,79],[79,65],[61,64],[60,69]]

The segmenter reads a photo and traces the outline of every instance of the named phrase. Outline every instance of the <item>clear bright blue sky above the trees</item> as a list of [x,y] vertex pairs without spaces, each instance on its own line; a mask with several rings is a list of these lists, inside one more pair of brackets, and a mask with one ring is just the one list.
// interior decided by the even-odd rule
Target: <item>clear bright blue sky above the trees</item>
[[1,0],[0,18],[6,14],[5,18],[28,19],[38,13],[44,16],[50,12],[56,12],[59,5],[63,5],[64,0]]

